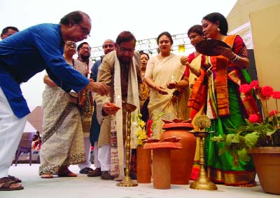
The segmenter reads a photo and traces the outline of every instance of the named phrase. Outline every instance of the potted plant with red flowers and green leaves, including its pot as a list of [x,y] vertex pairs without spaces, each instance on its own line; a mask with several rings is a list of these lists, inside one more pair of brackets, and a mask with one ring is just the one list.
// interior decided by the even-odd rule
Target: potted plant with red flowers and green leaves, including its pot
[[[251,114],[244,125],[230,129],[232,134],[215,136],[211,141],[223,143],[225,147],[219,154],[226,150],[230,152],[236,166],[239,160],[248,161],[252,157],[262,190],[280,194],[280,119],[277,105],[280,91],[274,91],[271,86],[260,87],[258,81],[241,85],[239,91],[242,100],[250,100],[246,93],[255,93],[260,100],[264,119],[260,121],[260,115]],[[269,98],[274,98],[276,102],[276,110],[270,113],[267,110]]]

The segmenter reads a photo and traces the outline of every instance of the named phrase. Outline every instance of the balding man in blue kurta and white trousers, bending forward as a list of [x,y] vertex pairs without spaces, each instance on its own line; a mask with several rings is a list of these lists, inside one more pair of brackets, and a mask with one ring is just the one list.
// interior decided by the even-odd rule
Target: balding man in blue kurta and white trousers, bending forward
[[87,39],[91,27],[86,13],[74,11],[59,24],[35,25],[0,42],[0,191],[23,189],[20,183],[8,178],[8,168],[30,113],[20,90],[21,83],[46,70],[64,91],[87,88],[101,95],[109,93],[109,86],[90,81],[63,58],[64,41]]

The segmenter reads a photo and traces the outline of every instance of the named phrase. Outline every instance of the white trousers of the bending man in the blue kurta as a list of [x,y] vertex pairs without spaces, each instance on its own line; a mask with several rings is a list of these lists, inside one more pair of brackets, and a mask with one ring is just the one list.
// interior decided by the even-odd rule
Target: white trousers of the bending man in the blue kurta
[[0,178],[8,176],[26,122],[27,116],[15,116],[0,87]]

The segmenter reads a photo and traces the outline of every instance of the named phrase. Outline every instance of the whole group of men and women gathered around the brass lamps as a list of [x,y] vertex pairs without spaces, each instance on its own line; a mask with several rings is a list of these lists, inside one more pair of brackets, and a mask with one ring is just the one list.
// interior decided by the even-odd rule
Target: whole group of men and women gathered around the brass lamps
[[[40,24],[19,31],[6,27],[0,41],[0,191],[22,190],[21,180],[8,175],[13,153],[20,142],[29,108],[20,84],[46,71],[43,82],[43,133],[40,138],[41,178],[76,177],[68,168],[78,164],[80,173],[103,180],[125,177],[127,110],[123,103],[137,107],[144,121],[165,113],[154,128],[152,138],[163,133],[162,119],[192,119],[207,115],[214,131],[205,140],[205,159],[214,183],[253,186],[254,180],[241,178],[254,171],[252,161],[234,166],[229,153],[218,155],[221,145],[210,138],[232,133],[248,117],[239,97],[239,86],[251,79],[246,72],[248,54],[238,35],[228,35],[228,22],[221,13],[202,18],[202,25],[188,30],[193,46],[204,39],[223,41],[208,56],[198,51],[190,55],[172,53],[172,35],[158,35],[158,55],[135,50],[137,39],[130,31],[106,39],[101,60],[90,60],[87,39],[89,15],[74,11],[59,24]],[[78,58],[73,55],[78,53]],[[32,61],[29,61],[32,60]],[[218,97],[217,97],[218,95]],[[5,127],[3,127],[5,126]],[[38,134],[40,137],[40,134]],[[132,131],[132,150],[137,137]],[[94,146],[91,169],[90,147]],[[135,152],[134,152],[135,153]],[[134,156],[137,157],[137,156]],[[226,180],[230,174],[232,180]],[[136,174],[132,173],[135,179]],[[248,177],[249,178],[249,177]],[[195,178],[194,178],[195,179]]]

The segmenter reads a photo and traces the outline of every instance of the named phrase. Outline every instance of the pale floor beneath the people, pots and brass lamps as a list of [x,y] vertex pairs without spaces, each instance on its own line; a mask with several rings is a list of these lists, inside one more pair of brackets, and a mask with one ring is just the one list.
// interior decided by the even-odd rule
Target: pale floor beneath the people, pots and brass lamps
[[[78,173],[78,166],[70,166],[71,171]],[[153,183],[139,184],[137,187],[118,187],[116,181],[106,181],[100,178],[89,178],[78,174],[77,178],[53,178],[41,179],[38,176],[38,164],[18,164],[10,167],[10,175],[22,179],[25,190],[13,192],[0,192],[1,198],[82,198],[82,197],[112,197],[112,198],[190,198],[190,197],[214,197],[214,198],[258,198],[279,197],[262,192],[260,184],[256,187],[229,187],[217,185],[218,190],[193,190],[190,185],[172,185],[168,190],[157,190]],[[190,181],[192,182],[192,181]]]

